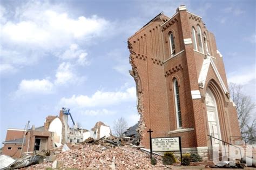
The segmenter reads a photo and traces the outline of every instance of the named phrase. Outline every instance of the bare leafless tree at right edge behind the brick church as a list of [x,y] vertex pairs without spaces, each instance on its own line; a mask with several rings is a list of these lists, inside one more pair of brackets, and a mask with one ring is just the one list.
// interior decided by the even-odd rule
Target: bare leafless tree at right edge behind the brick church
[[237,109],[239,127],[242,137],[256,139],[255,103],[252,97],[242,91],[242,86],[229,84],[231,98]]

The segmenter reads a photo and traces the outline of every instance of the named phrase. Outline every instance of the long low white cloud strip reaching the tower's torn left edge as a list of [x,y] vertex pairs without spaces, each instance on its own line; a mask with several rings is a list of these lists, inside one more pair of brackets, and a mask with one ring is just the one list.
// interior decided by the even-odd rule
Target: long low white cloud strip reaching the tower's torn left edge
[[136,100],[136,88],[130,87],[126,91],[104,92],[97,91],[91,97],[84,95],[73,95],[71,98],[62,98],[60,106],[65,107],[103,107],[122,103],[124,101]]

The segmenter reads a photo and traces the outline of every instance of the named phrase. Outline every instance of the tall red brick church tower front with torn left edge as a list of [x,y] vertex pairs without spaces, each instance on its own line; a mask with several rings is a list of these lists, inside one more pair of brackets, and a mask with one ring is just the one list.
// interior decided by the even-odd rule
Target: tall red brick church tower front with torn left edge
[[180,136],[183,151],[207,158],[220,140],[241,135],[223,56],[201,17],[181,5],[171,18],[159,13],[128,43],[141,145],[150,147],[151,128],[152,137]]

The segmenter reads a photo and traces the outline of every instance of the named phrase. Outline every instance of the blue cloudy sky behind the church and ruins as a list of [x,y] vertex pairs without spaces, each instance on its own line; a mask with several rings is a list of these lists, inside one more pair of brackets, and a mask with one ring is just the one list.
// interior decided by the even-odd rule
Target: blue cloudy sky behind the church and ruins
[[179,5],[203,18],[228,81],[256,101],[255,1],[1,0],[0,146],[7,128],[42,126],[62,107],[86,129],[120,117],[136,124],[127,38]]

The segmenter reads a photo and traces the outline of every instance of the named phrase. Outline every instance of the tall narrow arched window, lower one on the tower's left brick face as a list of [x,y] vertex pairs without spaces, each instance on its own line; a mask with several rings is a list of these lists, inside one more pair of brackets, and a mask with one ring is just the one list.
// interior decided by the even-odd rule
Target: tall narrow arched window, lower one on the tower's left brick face
[[177,128],[181,128],[182,127],[181,110],[180,110],[180,99],[179,99],[179,86],[178,86],[177,79],[173,80],[173,92],[174,92],[174,100],[175,100]]

